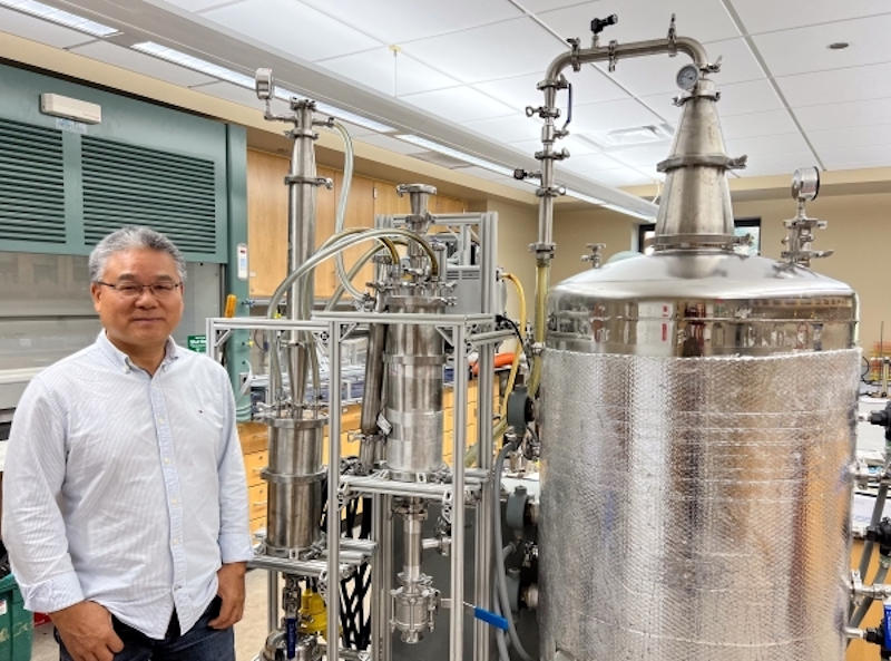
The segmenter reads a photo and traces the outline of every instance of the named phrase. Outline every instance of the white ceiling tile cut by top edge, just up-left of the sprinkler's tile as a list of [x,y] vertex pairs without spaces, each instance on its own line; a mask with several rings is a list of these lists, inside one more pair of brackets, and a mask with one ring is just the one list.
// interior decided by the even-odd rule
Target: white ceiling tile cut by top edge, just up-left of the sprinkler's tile
[[249,0],[202,12],[224,28],[309,61],[382,43],[293,0]]

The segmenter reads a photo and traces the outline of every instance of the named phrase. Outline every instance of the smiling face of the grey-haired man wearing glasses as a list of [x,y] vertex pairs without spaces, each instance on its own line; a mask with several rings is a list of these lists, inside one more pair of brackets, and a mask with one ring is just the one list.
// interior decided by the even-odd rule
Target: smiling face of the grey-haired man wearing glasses
[[126,290],[128,285],[180,283],[174,259],[148,249],[116,252],[108,257],[100,280],[118,288],[96,282],[90,286],[108,339],[125,352],[163,347],[183,317],[182,284],[168,292],[158,288],[157,294],[148,288],[141,288],[137,295],[127,295]]

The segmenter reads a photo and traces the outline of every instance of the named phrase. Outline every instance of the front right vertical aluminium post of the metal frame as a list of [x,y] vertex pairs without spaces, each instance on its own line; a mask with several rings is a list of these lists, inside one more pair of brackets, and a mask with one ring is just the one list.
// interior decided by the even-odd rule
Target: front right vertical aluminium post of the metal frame
[[450,661],[463,658],[464,638],[464,444],[467,443],[466,328],[454,330],[454,476],[452,479],[452,610],[449,613]]

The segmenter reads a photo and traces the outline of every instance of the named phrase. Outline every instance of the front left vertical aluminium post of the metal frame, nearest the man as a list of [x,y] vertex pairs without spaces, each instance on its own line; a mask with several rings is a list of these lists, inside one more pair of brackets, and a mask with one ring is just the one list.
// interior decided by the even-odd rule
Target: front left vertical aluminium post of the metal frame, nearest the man
[[341,511],[337,507],[341,465],[341,322],[329,324],[329,464],[327,464],[327,658],[340,655]]

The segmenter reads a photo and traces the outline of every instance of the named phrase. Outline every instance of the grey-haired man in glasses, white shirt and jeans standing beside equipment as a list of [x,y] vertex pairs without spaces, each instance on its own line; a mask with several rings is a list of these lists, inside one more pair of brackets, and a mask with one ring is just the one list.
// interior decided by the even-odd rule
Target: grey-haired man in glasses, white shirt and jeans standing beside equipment
[[226,371],[170,338],[186,268],[125,227],[90,254],[104,330],[16,410],[2,531],[61,661],[234,661],[252,555]]

